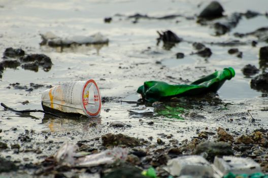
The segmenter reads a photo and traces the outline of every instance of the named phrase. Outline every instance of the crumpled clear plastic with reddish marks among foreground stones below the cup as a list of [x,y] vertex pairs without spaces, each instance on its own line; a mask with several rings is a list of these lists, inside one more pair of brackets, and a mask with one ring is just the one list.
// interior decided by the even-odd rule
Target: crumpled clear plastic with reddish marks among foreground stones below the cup
[[115,147],[112,150],[106,150],[101,153],[87,155],[76,160],[76,167],[91,167],[101,164],[112,164],[116,161],[125,161],[127,157],[127,149]]

